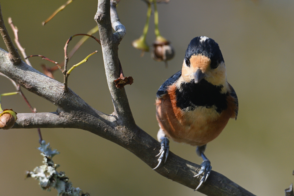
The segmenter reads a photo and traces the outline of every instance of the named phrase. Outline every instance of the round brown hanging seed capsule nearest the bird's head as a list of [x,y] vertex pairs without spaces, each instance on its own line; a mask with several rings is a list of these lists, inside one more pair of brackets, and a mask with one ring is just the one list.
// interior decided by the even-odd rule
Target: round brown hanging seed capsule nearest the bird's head
[[167,39],[157,36],[156,41],[153,43],[151,56],[155,61],[166,62],[175,56],[175,51]]

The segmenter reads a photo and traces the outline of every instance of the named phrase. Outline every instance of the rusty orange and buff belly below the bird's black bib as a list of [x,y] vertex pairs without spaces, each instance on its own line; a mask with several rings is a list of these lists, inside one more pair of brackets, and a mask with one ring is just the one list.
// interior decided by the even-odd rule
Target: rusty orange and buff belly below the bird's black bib
[[166,135],[176,142],[204,145],[215,139],[225,128],[231,113],[218,113],[214,108],[196,107],[183,111],[171,107],[170,100],[156,100],[157,119]]

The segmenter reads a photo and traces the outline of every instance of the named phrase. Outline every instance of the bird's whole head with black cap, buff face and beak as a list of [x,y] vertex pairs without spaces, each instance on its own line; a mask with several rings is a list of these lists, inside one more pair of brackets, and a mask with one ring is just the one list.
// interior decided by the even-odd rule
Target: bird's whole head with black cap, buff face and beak
[[182,82],[196,84],[204,79],[214,86],[223,86],[223,92],[227,92],[225,62],[213,39],[200,36],[191,40],[183,61],[181,77]]

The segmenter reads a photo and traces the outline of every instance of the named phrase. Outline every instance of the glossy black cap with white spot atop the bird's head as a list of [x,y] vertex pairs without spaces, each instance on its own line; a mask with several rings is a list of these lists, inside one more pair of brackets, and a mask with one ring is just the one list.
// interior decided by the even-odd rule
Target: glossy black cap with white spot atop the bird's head
[[192,55],[203,55],[211,60],[211,66],[224,62],[223,55],[218,43],[206,36],[198,36],[191,40],[186,50],[185,59],[189,60]]

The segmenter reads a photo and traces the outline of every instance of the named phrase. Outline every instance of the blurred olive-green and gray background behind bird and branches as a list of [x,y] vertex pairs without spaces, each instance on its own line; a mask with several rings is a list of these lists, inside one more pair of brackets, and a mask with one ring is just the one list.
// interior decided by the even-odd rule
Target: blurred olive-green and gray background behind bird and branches
[[[45,26],[41,22],[65,3],[51,1],[1,1],[7,18],[19,28],[19,39],[27,55],[41,54],[57,62],[64,58],[66,40],[86,33],[93,20],[97,1],[76,0]],[[122,0],[118,14],[127,33],[119,45],[119,58],[125,76],[134,83],[126,86],[136,123],[156,138],[155,94],[159,86],[181,69],[186,47],[196,36],[208,36],[219,43],[225,59],[228,82],[239,99],[237,121],[230,120],[223,133],[210,142],[206,155],[213,170],[222,173],[256,195],[284,195],[294,182],[294,2],[284,1],[176,1],[159,4],[159,29],[176,51],[166,69],[150,53],[140,57],[131,42],[141,35],[146,20],[146,4]],[[153,15],[147,42],[154,41]],[[98,33],[95,34],[98,37]],[[71,41],[71,49],[79,38]],[[6,49],[4,42],[0,47]],[[89,39],[81,46],[69,66],[98,50],[87,63],[69,77],[69,87],[94,108],[112,113],[101,48]],[[54,66],[40,57],[30,59],[39,71],[41,63]],[[59,71],[55,78],[63,81]],[[0,93],[15,91],[4,77]],[[56,107],[33,93],[25,95],[38,112],[54,112]],[[3,97],[2,108],[29,113],[19,95]],[[135,155],[103,138],[79,129],[41,129],[43,138],[61,153],[54,162],[61,165],[75,187],[94,195],[203,195],[157,174]],[[36,129],[0,131],[0,195],[56,195],[56,190],[41,190],[24,172],[41,165],[42,157]],[[200,164],[195,147],[171,141],[173,153]],[[155,157],[154,157],[155,158]],[[194,180],[194,179],[191,179]]]

